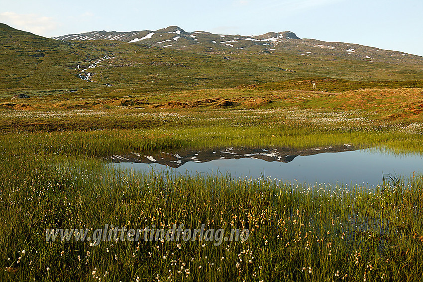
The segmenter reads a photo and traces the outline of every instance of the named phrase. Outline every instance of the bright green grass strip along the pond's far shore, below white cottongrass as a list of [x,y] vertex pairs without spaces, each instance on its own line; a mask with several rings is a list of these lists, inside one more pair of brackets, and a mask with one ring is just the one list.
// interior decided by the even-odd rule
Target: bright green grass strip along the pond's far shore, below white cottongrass
[[321,130],[312,127],[181,127],[48,133],[3,133],[0,153],[109,156],[145,150],[213,148],[221,146],[310,148],[353,144],[358,148],[386,147],[398,153],[423,152],[419,134],[395,130]]

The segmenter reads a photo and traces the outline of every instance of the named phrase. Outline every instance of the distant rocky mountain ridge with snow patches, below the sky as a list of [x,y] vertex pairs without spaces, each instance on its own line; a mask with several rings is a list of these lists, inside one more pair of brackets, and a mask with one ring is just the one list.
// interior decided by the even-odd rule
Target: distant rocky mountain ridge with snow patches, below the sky
[[300,39],[291,31],[268,32],[262,35],[212,34],[205,31],[186,32],[178,26],[159,30],[130,32],[93,31],[55,37],[57,40],[118,40],[151,46],[212,53],[215,51],[245,50],[263,52],[289,52],[301,56],[334,56],[366,62],[422,64],[422,57],[398,51],[342,42],[324,42]]

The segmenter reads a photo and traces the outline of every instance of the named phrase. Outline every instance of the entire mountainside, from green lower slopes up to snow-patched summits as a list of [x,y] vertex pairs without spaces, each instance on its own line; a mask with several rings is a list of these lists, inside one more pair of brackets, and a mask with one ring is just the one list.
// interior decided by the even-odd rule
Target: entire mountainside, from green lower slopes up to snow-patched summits
[[[129,33],[98,37],[123,34]],[[0,24],[0,98],[54,95],[61,105],[68,95],[261,89],[269,83],[274,90],[308,90],[313,80],[324,82],[320,90],[336,90],[358,89],[365,81],[381,81],[368,85],[383,87],[386,81],[412,86],[423,80],[422,57],[347,43],[323,45],[289,31],[246,37],[171,26],[133,32],[125,39],[131,43],[69,38],[44,38]]]

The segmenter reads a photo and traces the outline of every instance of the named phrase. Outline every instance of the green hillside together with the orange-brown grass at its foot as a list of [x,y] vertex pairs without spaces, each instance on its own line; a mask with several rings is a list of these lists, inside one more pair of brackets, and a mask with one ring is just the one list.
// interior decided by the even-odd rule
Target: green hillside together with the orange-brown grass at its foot
[[[117,41],[63,42],[6,25],[0,26],[0,42],[3,108],[213,108],[221,99],[229,99],[241,109],[360,108],[379,111],[382,120],[420,120],[420,92],[407,90],[423,87],[419,64],[371,63],[331,54],[299,56],[291,50],[263,52],[259,46],[257,50],[205,54]],[[93,82],[77,76],[105,55],[113,58],[89,69],[94,73]],[[330,93],[296,92],[311,90],[312,81],[317,82],[318,92]],[[362,88],[398,90],[381,95],[378,90],[363,93]],[[10,100],[20,93],[31,99]],[[221,99],[198,103],[208,98]],[[270,105],[269,100],[275,103]],[[172,101],[182,105],[167,104]]]

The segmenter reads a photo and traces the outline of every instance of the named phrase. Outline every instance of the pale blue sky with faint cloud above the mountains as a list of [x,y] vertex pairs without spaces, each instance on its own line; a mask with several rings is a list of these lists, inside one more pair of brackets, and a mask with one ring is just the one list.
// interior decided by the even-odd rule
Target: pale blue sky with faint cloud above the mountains
[[53,37],[94,30],[263,34],[340,41],[423,56],[422,0],[1,0],[0,22]]

